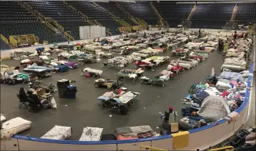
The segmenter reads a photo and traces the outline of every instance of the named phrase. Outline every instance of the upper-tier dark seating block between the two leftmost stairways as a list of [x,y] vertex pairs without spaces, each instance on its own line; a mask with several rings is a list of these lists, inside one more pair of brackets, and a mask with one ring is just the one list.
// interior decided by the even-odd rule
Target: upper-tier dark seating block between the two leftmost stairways
[[56,21],[82,20],[80,16],[64,6],[61,1],[26,1],[33,9]]

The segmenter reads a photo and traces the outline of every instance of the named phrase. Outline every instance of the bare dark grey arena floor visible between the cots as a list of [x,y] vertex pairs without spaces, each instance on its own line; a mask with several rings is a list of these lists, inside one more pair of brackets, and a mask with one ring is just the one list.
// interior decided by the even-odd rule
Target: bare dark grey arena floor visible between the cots
[[[170,56],[171,59],[178,58],[171,56],[170,53],[162,54]],[[19,61],[5,60],[7,66],[19,66]],[[57,103],[57,109],[41,110],[39,113],[29,112],[28,109],[19,109],[19,100],[16,98],[20,87],[28,88],[26,84],[19,85],[1,85],[1,113],[9,115],[7,120],[11,118],[21,117],[31,120],[31,128],[22,132],[21,135],[29,134],[32,137],[41,137],[49,131],[54,125],[72,126],[73,134],[71,140],[79,140],[83,127],[102,127],[103,133],[114,133],[117,127],[150,125],[156,132],[156,127],[162,123],[159,111],[167,110],[169,105],[177,110],[179,118],[182,118],[181,108],[184,106],[181,99],[187,95],[192,83],[204,81],[209,75],[212,68],[216,73],[220,73],[222,66],[222,58],[219,53],[210,53],[210,58],[203,61],[199,66],[189,71],[184,71],[174,77],[174,80],[168,80],[164,88],[150,85],[140,85],[139,80],[132,83],[125,80],[124,84],[129,90],[141,93],[139,101],[135,102],[132,108],[129,108],[127,115],[111,114],[109,108],[102,108],[99,105],[97,97],[107,92],[104,88],[94,88],[94,80],[96,78],[85,78],[80,75],[80,70],[89,67],[101,69],[102,78],[114,79],[114,73],[118,70],[115,68],[102,68],[102,63],[87,64],[84,67],[79,66],[78,69],[68,71],[66,73],[54,73],[51,78],[44,78],[45,83],[55,83],[62,78],[69,80],[77,80],[73,85],[77,86],[77,98],[60,99],[58,95],[54,95]],[[127,68],[134,68],[130,64]],[[167,64],[159,66],[155,71],[146,71],[144,75],[152,77],[160,71],[167,68]],[[65,106],[67,105],[67,106]],[[109,117],[112,115],[112,117]]]

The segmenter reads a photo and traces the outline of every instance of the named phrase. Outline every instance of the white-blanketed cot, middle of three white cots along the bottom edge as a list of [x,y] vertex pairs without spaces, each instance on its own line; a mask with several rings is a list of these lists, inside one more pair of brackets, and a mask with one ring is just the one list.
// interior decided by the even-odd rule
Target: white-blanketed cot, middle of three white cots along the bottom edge
[[41,138],[51,140],[65,140],[71,137],[72,127],[55,125],[51,130],[46,132]]

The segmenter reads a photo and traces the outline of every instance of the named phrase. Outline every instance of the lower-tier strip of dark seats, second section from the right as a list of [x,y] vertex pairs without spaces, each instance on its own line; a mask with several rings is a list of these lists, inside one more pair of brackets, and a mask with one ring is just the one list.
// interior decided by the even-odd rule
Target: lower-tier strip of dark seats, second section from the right
[[222,29],[226,21],[192,20],[190,28],[214,28]]

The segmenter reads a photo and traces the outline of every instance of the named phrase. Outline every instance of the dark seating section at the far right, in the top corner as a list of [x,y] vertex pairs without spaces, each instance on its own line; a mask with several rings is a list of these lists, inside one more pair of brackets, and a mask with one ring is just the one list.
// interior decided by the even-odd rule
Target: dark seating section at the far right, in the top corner
[[256,3],[237,4],[237,14],[235,20],[255,21]]

